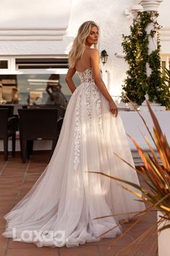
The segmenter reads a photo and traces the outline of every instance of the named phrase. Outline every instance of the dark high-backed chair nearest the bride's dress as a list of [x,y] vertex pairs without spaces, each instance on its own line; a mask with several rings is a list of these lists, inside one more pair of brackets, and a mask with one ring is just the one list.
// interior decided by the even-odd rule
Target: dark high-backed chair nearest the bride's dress
[[58,141],[58,109],[23,108],[18,113],[22,163],[32,153],[33,140],[53,140],[52,154]]

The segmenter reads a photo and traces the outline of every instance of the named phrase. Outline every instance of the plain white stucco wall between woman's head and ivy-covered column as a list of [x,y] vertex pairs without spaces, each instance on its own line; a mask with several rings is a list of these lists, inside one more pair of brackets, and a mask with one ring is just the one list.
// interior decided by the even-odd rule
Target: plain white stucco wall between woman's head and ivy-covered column
[[82,22],[94,20],[99,25],[99,51],[106,50],[109,54],[107,64],[103,67],[104,82],[107,83],[112,95],[120,95],[122,80],[125,77],[127,64],[123,59],[117,58],[115,53],[122,52],[122,33],[128,33],[131,20],[125,16],[124,11],[130,8],[133,0],[73,0],[67,35],[75,36]]

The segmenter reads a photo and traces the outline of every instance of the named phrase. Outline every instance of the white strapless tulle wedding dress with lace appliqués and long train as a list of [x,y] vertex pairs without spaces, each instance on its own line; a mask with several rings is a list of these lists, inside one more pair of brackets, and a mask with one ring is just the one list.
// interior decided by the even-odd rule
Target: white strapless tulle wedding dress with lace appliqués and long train
[[[120,115],[115,118],[109,111],[91,68],[79,76],[81,85],[71,95],[50,163],[27,195],[4,216],[3,236],[34,242],[37,247],[79,246],[121,234],[118,221],[130,217],[128,212],[145,209],[120,182],[89,173],[102,171],[138,184],[135,171],[114,154],[134,165]],[[118,213],[125,214],[94,220]],[[32,232],[27,241],[23,231]]]

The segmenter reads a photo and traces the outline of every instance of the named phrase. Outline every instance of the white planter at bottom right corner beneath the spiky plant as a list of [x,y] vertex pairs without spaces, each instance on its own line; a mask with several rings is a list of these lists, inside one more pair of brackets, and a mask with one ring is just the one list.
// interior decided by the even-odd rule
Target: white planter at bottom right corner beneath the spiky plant
[[[160,219],[159,216],[163,216],[164,213],[158,211],[157,217],[158,221]],[[167,225],[170,223],[169,221],[164,221],[161,223],[160,227]],[[158,256],[169,256],[170,255],[170,229],[165,229],[158,234]]]

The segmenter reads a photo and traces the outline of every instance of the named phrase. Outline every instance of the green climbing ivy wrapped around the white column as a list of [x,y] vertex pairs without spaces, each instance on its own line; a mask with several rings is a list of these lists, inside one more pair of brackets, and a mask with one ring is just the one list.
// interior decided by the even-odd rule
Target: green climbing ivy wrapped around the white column
[[[158,34],[161,26],[156,21],[157,12],[138,12],[130,26],[130,35],[122,35],[122,48],[125,53],[125,61],[128,61],[129,69],[127,78],[122,85],[122,101],[128,102],[124,95],[131,101],[141,105],[148,94],[149,101],[166,105],[167,91],[162,86],[160,40],[158,35],[158,47],[148,54],[149,37]],[[153,29],[147,34],[146,27],[152,23]],[[151,67],[151,74],[146,73],[146,64]]]

